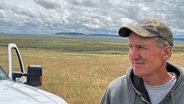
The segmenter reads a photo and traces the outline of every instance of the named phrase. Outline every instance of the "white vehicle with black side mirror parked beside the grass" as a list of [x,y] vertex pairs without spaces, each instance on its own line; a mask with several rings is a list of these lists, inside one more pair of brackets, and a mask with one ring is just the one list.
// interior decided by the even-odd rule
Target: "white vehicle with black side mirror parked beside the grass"
[[[12,50],[16,51],[20,71],[12,68]],[[16,44],[8,45],[8,60],[8,74],[0,66],[0,104],[67,104],[61,97],[33,87],[42,83],[42,67],[29,65],[25,72]]]

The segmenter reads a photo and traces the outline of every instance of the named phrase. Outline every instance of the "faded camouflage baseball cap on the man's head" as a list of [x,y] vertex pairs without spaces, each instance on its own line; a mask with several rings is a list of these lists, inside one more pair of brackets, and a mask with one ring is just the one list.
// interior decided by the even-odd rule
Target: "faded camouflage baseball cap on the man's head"
[[119,35],[128,37],[131,32],[142,37],[160,37],[169,42],[173,47],[173,34],[171,29],[156,19],[144,19],[133,26],[125,26],[119,29]]

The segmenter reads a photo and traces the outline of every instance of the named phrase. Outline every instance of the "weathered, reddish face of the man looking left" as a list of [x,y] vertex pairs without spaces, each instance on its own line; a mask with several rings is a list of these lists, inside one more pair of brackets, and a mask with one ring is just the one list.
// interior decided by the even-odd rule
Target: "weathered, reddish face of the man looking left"
[[144,38],[132,32],[128,44],[129,58],[135,75],[151,76],[165,68],[164,48],[157,46],[155,38]]

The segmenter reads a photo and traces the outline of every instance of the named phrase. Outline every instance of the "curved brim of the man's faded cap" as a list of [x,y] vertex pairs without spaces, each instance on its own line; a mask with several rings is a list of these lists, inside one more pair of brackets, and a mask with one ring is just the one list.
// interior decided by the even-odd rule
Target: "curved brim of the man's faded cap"
[[128,37],[131,32],[136,33],[142,37],[156,37],[155,34],[151,34],[149,31],[142,27],[132,26],[132,27],[122,27],[119,29],[119,35],[122,37]]

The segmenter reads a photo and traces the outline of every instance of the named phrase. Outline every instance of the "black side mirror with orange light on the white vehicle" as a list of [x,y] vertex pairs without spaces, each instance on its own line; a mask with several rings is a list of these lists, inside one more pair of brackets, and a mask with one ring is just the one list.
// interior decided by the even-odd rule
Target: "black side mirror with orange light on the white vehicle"
[[29,65],[27,71],[27,83],[31,86],[41,86],[42,67],[40,65]]

